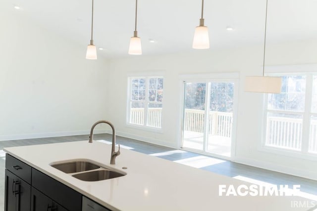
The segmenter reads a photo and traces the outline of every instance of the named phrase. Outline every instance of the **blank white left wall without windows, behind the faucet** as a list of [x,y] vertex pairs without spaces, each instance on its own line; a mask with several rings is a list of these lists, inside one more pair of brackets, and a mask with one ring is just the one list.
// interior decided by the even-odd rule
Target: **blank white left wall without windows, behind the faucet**
[[106,117],[106,61],[86,60],[85,46],[3,10],[0,140],[88,134]]

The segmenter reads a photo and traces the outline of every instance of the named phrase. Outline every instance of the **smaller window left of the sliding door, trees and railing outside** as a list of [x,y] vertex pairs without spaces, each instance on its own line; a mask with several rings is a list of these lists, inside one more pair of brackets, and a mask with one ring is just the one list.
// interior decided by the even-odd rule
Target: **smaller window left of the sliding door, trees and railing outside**
[[131,77],[129,84],[128,123],[161,128],[163,78]]

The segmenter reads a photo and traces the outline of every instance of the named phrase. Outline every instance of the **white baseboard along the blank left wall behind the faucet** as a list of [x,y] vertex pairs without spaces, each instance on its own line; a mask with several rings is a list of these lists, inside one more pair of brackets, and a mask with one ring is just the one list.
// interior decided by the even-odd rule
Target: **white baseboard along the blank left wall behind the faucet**
[[[97,134],[97,133],[105,133],[105,129],[95,129],[94,134]],[[30,138],[49,138],[49,137],[60,137],[60,136],[70,136],[70,135],[88,135],[88,134],[90,134],[90,130],[1,135],[0,141],[30,139]],[[88,140],[88,137],[87,137],[87,140]]]

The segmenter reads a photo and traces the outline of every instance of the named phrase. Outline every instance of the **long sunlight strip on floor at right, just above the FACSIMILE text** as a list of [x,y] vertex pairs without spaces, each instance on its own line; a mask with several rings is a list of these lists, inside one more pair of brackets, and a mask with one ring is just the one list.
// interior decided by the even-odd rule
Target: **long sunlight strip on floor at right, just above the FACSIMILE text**
[[[275,186],[275,184],[272,184],[272,183],[268,183],[268,182],[264,182],[264,181],[260,181],[260,180],[257,180],[257,179],[252,179],[252,178],[249,178],[249,177],[245,177],[245,176],[234,176],[233,178],[235,179],[239,179],[241,181],[245,181],[245,182],[250,182],[252,184],[256,184],[256,185],[259,185],[259,186],[265,186],[265,187],[272,187],[272,186]],[[281,185],[286,185],[286,184],[281,184]],[[286,193],[294,193],[294,195],[296,196],[300,196],[300,197],[303,197],[305,199],[310,199],[310,200],[314,200],[314,201],[317,201],[317,196],[314,195],[314,194],[310,194],[310,193],[306,193],[306,192],[303,192],[303,191],[294,191],[293,188],[292,188],[292,185],[289,185],[290,188],[285,188],[285,192]]]

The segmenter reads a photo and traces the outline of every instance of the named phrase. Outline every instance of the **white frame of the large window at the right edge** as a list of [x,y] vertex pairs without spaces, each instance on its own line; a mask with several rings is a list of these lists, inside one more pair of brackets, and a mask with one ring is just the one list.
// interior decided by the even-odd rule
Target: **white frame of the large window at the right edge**
[[[317,65],[281,65],[281,66],[270,66],[268,67],[269,72],[266,76],[291,76],[291,75],[304,75],[306,76],[306,90],[305,90],[305,106],[304,111],[284,111],[284,110],[271,110],[267,108],[268,105],[268,94],[264,94],[264,109],[263,109],[263,130],[262,139],[260,142],[260,150],[264,152],[280,154],[296,158],[304,158],[307,160],[317,160],[317,153],[309,152],[310,143],[310,126],[311,117],[317,116],[317,113],[312,112],[312,97],[313,97],[313,77],[317,76]],[[278,70],[278,72],[277,72]],[[295,71],[296,70],[296,71]],[[303,70],[299,72],[298,70]],[[315,70],[315,71],[312,71]],[[266,142],[266,129],[267,129],[267,114],[268,113],[279,113],[279,114],[294,114],[303,115],[302,123],[302,143],[300,151],[292,149],[284,149],[274,146],[265,145]]]

